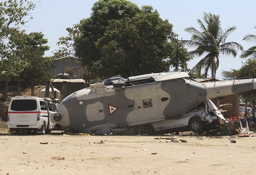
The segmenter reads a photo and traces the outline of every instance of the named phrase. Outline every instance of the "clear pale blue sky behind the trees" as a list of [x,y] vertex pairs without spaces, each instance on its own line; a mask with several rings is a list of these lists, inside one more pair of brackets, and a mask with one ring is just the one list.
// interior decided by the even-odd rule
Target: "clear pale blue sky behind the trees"
[[[228,26],[236,26],[236,30],[228,37],[227,41],[240,43],[244,49],[248,49],[255,43],[243,41],[244,35],[255,34],[256,29],[256,1],[255,0],[131,0],[139,7],[152,5],[162,19],[168,19],[173,24],[173,31],[179,35],[179,39],[189,40],[191,37],[184,32],[184,28],[193,26],[199,30],[196,19],[203,17],[203,12],[211,12],[220,15],[222,29]],[[96,0],[32,0],[36,4],[32,12],[34,19],[30,20],[24,29],[27,33],[43,32],[48,39],[50,51],[45,56],[52,56],[52,52],[58,49],[56,43],[61,36],[67,36],[67,27],[79,23],[83,18],[90,17],[92,5]],[[189,49],[191,50],[191,48]],[[220,55],[220,66],[216,78],[220,78],[221,70],[239,69],[244,59],[232,56]],[[191,69],[200,58],[194,58],[188,62]]]

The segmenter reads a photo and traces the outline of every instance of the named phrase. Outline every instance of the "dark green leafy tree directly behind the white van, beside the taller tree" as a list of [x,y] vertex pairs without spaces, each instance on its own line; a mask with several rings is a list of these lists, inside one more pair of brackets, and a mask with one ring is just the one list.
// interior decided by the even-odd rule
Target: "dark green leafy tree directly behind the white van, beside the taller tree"
[[44,51],[49,50],[47,39],[42,32],[23,33],[22,45],[17,46],[16,58],[24,62],[20,78],[28,84],[44,84],[53,77],[49,69],[52,57],[44,57]]

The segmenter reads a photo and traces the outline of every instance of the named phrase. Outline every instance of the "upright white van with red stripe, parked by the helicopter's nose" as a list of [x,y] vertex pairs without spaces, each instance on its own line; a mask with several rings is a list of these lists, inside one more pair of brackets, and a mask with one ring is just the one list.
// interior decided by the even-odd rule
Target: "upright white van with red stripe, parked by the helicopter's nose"
[[55,111],[56,105],[50,98],[16,96],[10,101],[7,125],[12,134],[36,131],[44,135],[56,126],[49,118]]

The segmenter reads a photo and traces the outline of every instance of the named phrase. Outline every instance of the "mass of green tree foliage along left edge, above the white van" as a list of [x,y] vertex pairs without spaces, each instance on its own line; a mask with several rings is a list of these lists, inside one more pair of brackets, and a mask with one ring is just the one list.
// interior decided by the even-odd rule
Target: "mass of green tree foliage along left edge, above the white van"
[[[35,4],[27,0],[0,3],[0,71],[11,78],[23,78],[28,84],[43,84],[52,77],[51,58],[43,57],[49,50],[42,32],[20,31]],[[26,20],[27,19],[27,20]]]

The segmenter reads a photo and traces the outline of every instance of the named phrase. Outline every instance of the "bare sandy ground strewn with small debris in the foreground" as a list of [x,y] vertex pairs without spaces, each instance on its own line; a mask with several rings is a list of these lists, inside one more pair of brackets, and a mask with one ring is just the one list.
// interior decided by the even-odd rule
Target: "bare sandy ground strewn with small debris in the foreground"
[[[232,138],[236,143],[226,136],[177,138],[187,143],[156,137],[159,136],[0,135],[0,174],[256,173],[256,137]],[[97,143],[101,141],[104,143]]]

